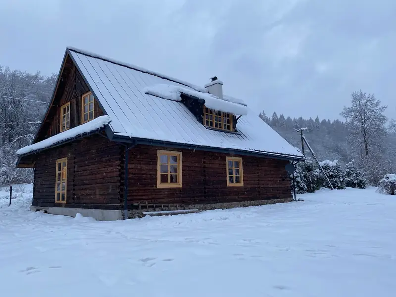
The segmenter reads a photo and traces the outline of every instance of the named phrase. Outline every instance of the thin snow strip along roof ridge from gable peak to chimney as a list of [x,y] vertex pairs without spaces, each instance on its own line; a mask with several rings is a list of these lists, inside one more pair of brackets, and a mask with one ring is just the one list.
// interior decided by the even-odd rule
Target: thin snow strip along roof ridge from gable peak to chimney
[[71,51],[74,51],[74,52],[77,52],[77,53],[80,53],[80,54],[83,54],[83,55],[86,55],[86,56],[90,56],[92,58],[104,60],[104,61],[107,61],[107,62],[110,62],[110,63],[113,63],[113,64],[117,64],[117,65],[120,65],[120,66],[131,68],[131,69],[143,72],[143,73],[155,75],[155,76],[158,76],[160,78],[167,79],[169,81],[172,81],[172,82],[175,82],[175,83],[179,83],[181,85],[185,85],[187,87],[190,87],[190,88],[192,88],[192,89],[194,89],[196,91],[202,92],[202,93],[208,93],[208,90],[206,88],[203,88],[203,87],[200,87],[200,86],[197,86],[197,85],[194,85],[194,84],[190,84],[190,83],[185,82],[183,80],[176,79],[176,78],[173,78],[171,76],[163,75],[163,74],[160,74],[160,73],[155,72],[155,71],[150,71],[148,69],[145,69],[145,68],[133,65],[133,64],[128,64],[128,63],[124,63],[124,62],[121,62],[121,61],[117,61],[115,59],[107,58],[107,57],[104,57],[104,56],[101,56],[99,54],[96,54],[96,53],[93,53],[93,52],[89,52],[89,51],[86,51],[86,50],[76,49],[74,47],[67,47],[67,49],[71,50]]

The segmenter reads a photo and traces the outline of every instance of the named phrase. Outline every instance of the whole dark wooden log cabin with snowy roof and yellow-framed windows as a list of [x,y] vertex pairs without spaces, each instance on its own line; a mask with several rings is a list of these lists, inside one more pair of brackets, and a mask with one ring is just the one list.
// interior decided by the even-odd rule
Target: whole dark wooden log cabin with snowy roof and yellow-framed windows
[[17,167],[31,209],[98,220],[292,200],[285,165],[304,156],[216,77],[205,87],[67,48]]

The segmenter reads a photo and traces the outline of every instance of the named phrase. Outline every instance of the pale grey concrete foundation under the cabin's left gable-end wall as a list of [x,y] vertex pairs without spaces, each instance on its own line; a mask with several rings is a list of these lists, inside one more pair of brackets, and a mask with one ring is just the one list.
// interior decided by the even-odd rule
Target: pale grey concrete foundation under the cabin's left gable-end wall
[[85,209],[85,208],[68,208],[68,207],[36,207],[31,206],[31,211],[44,210],[50,214],[62,214],[75,217],[80,213],[85,217],[92,217],[97,221],[116,221],[122,219],[122,213],[119,210],[104,210],[104,209]]

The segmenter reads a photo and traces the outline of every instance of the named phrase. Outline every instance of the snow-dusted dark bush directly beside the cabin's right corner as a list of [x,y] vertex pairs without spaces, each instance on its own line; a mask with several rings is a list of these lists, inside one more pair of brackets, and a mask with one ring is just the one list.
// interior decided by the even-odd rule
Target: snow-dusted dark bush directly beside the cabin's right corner
[[319,171],[309,160],[298,163],[294,173],[296,193],[313,193],[319,189]]

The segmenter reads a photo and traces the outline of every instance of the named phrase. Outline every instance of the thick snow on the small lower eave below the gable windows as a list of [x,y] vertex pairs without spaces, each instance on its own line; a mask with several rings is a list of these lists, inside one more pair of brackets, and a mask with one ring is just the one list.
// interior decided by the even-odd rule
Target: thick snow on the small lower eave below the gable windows
[[84,135],[84,134],[93,132],[95,130],[104,128],[104,126],[106,126],[108,123],[110,123],[110,121],[111,120],[108,115],[99,116],[96,119],[93,119],[87,123],[84,123],[77,127],[71,128],[71,129],[63,131],[61,133],[58,133],[54,136],[51,136],[45,140],[39,141],[35,144],[23,147],[23,148],[17,150],[16,153],[18,155],[26,155],[26,154],[33,153],[35,151],[39,151],[39,150],[42,150],[45,148],[52,147],[56,144],[73,139],[79,135]]

